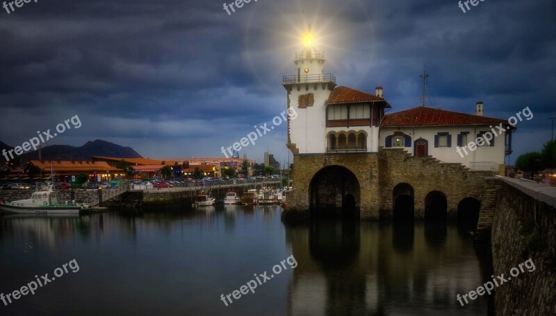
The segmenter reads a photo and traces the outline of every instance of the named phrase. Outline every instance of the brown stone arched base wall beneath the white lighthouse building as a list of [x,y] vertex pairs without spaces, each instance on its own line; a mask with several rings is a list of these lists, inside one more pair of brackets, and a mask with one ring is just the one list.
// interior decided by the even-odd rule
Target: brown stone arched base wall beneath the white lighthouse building
[[425,197],[440,191],[448,202],[448,216],[457,216],[464,198],[484,197],[485,177],[490,171],[472,171],[461,164],[446,164],[430,156],[409,155],[402,148],[379,148],[378,153],[335,153],[327,155],[294,155],[293,192],[288,195],[284,216],[306,219],[311,207],[311,180],[327,166],[343,166],[359,180],[360,199],[356,201],[362,220],[391,218],[393,189],[407,183],[414,188],[416,218],[423,218]]

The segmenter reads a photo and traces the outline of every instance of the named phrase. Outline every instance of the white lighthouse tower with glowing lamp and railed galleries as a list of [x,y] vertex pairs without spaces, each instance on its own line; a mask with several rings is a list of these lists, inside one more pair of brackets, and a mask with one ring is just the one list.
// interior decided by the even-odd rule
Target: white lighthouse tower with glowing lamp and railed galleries
[[324,73],[325,52],[316,49],[316,37],[309,30],[303,35],[302,51],[295,53],[293,76],[284,76],[288,109],[297,116],[288,118],[288,148],[296,154],[325,153],[325,101],[336,87],[336,77]]

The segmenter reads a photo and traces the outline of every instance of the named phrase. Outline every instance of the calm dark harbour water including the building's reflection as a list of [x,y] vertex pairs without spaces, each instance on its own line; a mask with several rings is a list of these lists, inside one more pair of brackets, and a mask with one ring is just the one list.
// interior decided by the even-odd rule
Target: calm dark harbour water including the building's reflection
[[[455,299],[488,273],[457,227],[284,225],[280,211],[0,216],[0,293],[79,265],[35,295],[0,301],[0,315],[486,315],[485,297]],[[254,293],[220,300],[291,255],[295,268],[286,261]]]

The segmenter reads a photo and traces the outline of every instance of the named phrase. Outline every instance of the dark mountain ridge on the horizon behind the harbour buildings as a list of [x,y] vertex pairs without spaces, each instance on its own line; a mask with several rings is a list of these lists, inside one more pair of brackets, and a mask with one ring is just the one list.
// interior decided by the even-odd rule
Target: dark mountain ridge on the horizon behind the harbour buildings
[[[0,146],[3,143],[0,143]],[[6,144],[4,144],[6,145]],[[1,150],[1,148],[0,148]],[[107,157],[125,157],[125,158],[142,158],[131,147],[116,145],[108,141],[97,139],[96,141],[88,141],[81,147],[69,145],[51,145],[43,147],[41,150],[42,159],[44,160],[85,160],[91,159],[91,156],[107,156]],[[22,161],[39,159],[39,152],[27,152],[21,155]]]

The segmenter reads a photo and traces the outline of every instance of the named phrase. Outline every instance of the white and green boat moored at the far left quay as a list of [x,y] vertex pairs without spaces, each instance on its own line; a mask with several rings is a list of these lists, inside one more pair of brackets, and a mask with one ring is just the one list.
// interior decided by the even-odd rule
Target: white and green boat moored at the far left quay
[[90,209],[87,203],[58,202],[54,182],[49,181],[38,187],[30,199],[0,204],[1,211],[20,214],[79,214]]

